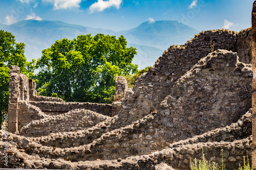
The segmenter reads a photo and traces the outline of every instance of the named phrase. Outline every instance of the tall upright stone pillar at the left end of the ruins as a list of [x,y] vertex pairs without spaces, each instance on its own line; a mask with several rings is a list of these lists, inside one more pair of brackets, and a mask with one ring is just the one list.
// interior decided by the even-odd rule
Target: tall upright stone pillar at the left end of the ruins
[[8,103],[8,132],[18,131],[18,101],[19,101],[19,67],[12,65],[10,67],[10,86]]

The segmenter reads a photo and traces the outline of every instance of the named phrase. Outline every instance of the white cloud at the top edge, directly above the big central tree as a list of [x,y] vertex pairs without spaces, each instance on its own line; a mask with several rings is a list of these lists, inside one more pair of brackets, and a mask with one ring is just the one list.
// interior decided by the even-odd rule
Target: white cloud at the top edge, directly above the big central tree
[[122,3],[122,0],[98,0],[98,2],[92,4],[90,6],[90,12],[93,13],[95,11],[103,11],[106,8],[115,7],[116,9],[120,8],[120,5]]

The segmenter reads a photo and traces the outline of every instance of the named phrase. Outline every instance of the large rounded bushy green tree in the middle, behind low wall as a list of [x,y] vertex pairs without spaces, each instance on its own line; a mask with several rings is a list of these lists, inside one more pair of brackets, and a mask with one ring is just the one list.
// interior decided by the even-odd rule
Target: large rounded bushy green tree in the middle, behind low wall
[[136,48],[126,47],[123,36],[79,35],[57,40],[37,60],[39,95],[65,101],[110,103],[115,77],[133,74]]

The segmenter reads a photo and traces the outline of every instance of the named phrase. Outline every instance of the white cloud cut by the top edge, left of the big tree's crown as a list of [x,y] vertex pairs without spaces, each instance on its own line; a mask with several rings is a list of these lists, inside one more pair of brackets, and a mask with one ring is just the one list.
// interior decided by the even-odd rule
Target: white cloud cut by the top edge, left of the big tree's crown
[[79,8],[82,0],[43,0],[54,4],[54,9]]

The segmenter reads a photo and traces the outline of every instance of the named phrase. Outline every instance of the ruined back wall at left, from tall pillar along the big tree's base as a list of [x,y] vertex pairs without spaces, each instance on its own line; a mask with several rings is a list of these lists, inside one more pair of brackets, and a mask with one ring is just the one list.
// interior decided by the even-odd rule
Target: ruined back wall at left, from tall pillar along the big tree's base
[[[95,103],[65,103],[62,99],[37,96],[35,82],[20,74],[19,67],[10,67],[8,105],[8,131],[20,132],[32,120],[49,118],[49,115],[67,113],[74,109],[88,109],[111,116],[112,105]],[[36,128],[35,128],[36,129]],[[56,129],[58,130],[58,129]],[[40,134],[41,131],[38,130]]]

